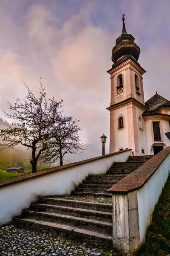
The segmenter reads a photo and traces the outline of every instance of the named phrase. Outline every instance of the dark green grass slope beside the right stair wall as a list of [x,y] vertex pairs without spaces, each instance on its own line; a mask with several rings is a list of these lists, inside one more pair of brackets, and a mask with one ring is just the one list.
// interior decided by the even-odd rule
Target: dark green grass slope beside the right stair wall
[[166,256],[170,254],[170,176],[147,228],[146,240],[134,256]]

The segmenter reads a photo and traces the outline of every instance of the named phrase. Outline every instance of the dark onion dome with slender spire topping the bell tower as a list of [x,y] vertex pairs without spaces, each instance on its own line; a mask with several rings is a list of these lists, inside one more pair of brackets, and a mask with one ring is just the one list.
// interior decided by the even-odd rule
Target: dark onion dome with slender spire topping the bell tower
[[125,18],[122,15],[123,29],[122,34],[116,39],[116,46],[112,50],[112,61],[116,62],[119,58],[125,55],[131,55],[136,61],[139,59],[140,48],[134,43],[135,38],[131,34],[127,34],[125,28]]

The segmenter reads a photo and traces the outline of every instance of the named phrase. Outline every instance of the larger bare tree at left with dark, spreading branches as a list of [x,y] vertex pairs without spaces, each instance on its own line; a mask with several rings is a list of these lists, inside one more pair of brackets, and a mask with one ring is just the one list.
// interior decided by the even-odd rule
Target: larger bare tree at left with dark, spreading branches
[[[25,82],[23,81],[25,84]],[[25,84],[27,87],[27,85]],[[36,98],[28,89],[28,95],[22,103],[17,98],[15,105],[10,103],[9,113],[5,116],[14,119],[12,125],[7,125],[8,128],[0,130],[0,137],[3,149],[14,148],[18,144],[22,144],[32,150],[30,163],[32,172],[37,171],[37,162],[42,152],[45,152],[49,146],[51,139],[51,131],[54,123],[57,122],[60,108],[60,102],[52,99],[46,99],[46,93],[42,88],[40,78],[40,96]]]

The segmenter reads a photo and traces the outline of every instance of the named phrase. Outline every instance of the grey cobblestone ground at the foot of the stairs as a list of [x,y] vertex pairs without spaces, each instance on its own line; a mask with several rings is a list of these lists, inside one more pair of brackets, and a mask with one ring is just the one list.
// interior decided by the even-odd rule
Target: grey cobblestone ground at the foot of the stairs
[[105,249],[37,230],[17,228],[14,225],[0,228],[0,256],[105,256],[105,253]]

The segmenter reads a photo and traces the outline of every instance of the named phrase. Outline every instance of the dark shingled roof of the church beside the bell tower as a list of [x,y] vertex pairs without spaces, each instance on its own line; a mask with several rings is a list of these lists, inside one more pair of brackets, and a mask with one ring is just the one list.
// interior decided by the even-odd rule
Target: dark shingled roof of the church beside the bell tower
[[158,108],[170,107],[170,101],[156,93],[155,95],[153,95],[153,97],[148,99],[147,102],[145,102],[145,105],[148,110],[144,111],[142,116],[150,116],[150,114],[154,114],[154,112],[157,111]]

